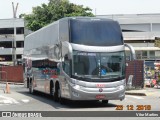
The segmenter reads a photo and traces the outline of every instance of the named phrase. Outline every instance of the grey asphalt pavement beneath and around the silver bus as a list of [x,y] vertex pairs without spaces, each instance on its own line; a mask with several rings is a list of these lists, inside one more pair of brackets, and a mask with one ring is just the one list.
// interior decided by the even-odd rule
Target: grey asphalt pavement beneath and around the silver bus
[[[31,110],[34,111],[37,109],[43,110],[44,108],[49,111],[54,111],[54,110],[55,111],[58,111],[58,110],[59,111],[70,111],[70,110],[73,110],[73,111],[76,111],[76,110],[81,110],[81,111],[83,111],[83,110],[84,111],[86,111],[86,110],[88,110],[88,111],[94,111],[94,110],[96,110],[96,111],[109,111],[110,110],[110,111],[113,111],[113,109],[115,110],[116,105],[124,105],[124,110],[126,110],[127,105],[133,105],[135,107],[135,109],[136,109],[137,105],[151,105],[152,110],[159,110],[158,105],[157,106],[153,105],[154,102],[157,102],[157,103],[159,102],[159,97],[160,97],[159,87],[158,88],[157,87],[144,88],[144,89],[140,89],[140,90],[133,90],[133,89],[127,90],[126,94],[130,94],[130,95],[126,95],[126,98],[122,103],[121,103],[121,101],[120,102],[119,101],[112,101],[112,103],[109,103],[109,105],[106,105],[106,106],[102,106],[102,104],[100,104],[99,102],[94,103],[94,105],[93,104],[88,105],[89,103],[87,103],[87,104],[81,103],[78,105],[75,105],[75,104],[61,105],[59,103],[52,102],[52,100],[50,100],[50,99],[45,99],[43,97],[39,97],[38,95],[36,95],[36,96],[30,95],[28,92],[26,92],[28,90],[26,88],[24,88],[23,84],[19,84],[19,85],[18,84],[9,84],[9,87],[10,87],[10,94],[6,94],[6,93],[4,93],[4,91],[6,89],[6,84],[0,83],[0,110],[4,109],[4,108],[5,108],[5,110],[12,110],[14,108],[14,106],[16,106],[17,108],[14,108],[15,110],[23,109],[23,110],[29,110],[29,111],[31,111]],[[25,91],[25,92],[22,94],[21,91]],[[139,96],[139,94],[143,94],[143,96]],[[157,98],[156,95],[159,95],[159,97]],[[148,96],[148,97],[145,97],[145,96]],[[95,105],[95,104],[97,104],[97,105]],[[52,119],[54,119],[54,118],[52,118]],[[71,118],[70,120],[72,120],[72,119],[73,118]],[[99,119],[99,118],[96,117],[96,119]],[[121,119],[121,117],[114,118],[114,119],[119,120],[119,119]],[[135,118],[135,119],[137,119],[137,118]],[[138,119],[141,119],[141,118],[138,117]],[[144,119],[148,119],[148,118],[144,118]],[[152,118],[152,119],[158,120],[159,118]],[[17,118],[16,118],[16,120],[17,120]],[[89,119],[89,120],[91,120],[91,119]],[[93,118],[92,118],[92,120],[93,120]],[[133,119],[127,118],[126,120],[133,120]]]

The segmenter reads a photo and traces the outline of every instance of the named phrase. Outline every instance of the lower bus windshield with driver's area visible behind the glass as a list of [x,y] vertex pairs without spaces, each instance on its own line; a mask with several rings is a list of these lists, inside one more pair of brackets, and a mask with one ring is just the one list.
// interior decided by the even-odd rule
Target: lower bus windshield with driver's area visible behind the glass
[[73,78],[89,81],[111,81],[124,78],[124,74],[124,52],[90,53],[73,51]]

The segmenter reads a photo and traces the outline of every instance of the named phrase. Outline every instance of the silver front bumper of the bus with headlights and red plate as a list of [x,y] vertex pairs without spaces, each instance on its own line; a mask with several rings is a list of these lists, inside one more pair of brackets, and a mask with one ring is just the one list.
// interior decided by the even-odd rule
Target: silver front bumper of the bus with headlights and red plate
[[72,100],[123,100],[125,98],[125,86],[117,88],[80,88],[71,87]]

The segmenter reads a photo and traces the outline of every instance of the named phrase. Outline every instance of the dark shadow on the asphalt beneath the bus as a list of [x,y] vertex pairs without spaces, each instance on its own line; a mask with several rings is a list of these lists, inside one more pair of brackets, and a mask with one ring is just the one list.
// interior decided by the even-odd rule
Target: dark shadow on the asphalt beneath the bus
[[71,101],[71,100],[65,100],[65,104],[60,104],[59,102],[55,102],[53,98],[50,95],[41,93],[41,92],[35,92],[34,94],[30,94],[28,91],[17,91],[20,94],[23,94],[25,96],[31,97],[34,100],[38,100],[40,102],[46,103],[48,105],[51,105],[55,109],[63,109],[63,108],[69,108],[69,109],[81,109],[81,108],[115,108],[116,104],[104,104],[101,101]]

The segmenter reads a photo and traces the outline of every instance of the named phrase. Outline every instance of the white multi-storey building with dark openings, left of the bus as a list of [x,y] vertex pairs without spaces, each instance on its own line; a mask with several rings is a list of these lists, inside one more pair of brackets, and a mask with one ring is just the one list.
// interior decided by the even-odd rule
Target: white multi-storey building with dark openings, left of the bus
[[[15,28],[15,33],[14,33]],[[15,40],[15,42],[14,42]],[[15,52],[14,52],[14,43]],[[12,65],[14,59],[22,58],[24,47],[24,20],[0,19],[0,64]]]

